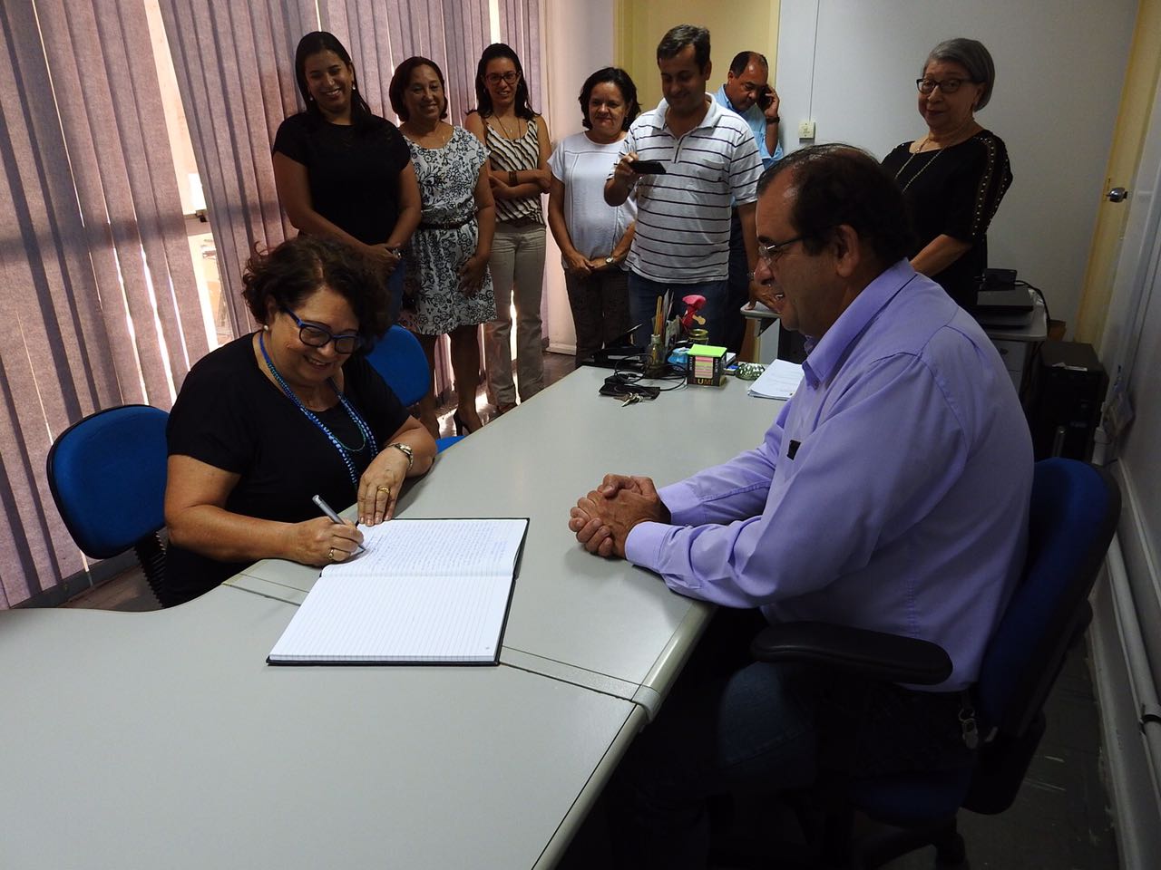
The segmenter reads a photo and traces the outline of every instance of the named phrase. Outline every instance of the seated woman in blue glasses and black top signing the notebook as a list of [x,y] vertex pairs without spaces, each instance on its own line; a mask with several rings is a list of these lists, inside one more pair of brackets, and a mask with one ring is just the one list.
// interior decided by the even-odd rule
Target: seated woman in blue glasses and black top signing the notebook
[[363,355],[388,326],[382,276],[334,240],[300,235],[254,254],[243,295],[262,327],[211,351],[168,425],[170,606],[257,559],[347,559],[362,534],[319,515],[355,502],[390,520],[435,442]]

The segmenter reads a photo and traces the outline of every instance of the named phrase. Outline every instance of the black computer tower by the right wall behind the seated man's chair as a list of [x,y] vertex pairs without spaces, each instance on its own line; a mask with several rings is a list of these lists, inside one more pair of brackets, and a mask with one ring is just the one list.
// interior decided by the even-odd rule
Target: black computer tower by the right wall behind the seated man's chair
[[1091,345],[1046,341],[1032,368],[1025,413],[1037,459],[1093,458],[1109,377]]

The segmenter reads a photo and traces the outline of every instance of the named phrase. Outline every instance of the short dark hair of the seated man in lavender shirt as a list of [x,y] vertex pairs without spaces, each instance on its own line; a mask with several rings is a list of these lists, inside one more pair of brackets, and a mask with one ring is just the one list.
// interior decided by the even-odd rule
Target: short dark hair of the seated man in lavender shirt
[[792,173],[796,188],[791,225],[808,254],[822,251],[843,224],[871,246],[884,268],[911,249],[903,194],[867,152],[842,143],[794,151],[762,174],[758,194],[784,172]]

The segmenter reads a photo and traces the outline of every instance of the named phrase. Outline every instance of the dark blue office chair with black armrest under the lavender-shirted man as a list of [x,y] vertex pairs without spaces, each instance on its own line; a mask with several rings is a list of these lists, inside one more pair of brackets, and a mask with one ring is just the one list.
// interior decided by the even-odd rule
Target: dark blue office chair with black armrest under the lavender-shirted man
[[[956,813],[1001,813],[1016,799],[1044,734],[1045,699],[1093,617],[1088,595],[1119,515],[1120,491],[1103,469],[1062,458],[1036,464],[1023,579],[974,688],[981,740],[974,767],[827,783],[827,803],[839,809],[820,828],[819,865],[881,867],[925,846],[936,847],[937,867],[965,864]],[[762,661],[806,661],[868,680],[935,686],[951,674],[935,644],[816,623],[765,629],[751,650]],[[889,828],[854,843],[854,812]]]

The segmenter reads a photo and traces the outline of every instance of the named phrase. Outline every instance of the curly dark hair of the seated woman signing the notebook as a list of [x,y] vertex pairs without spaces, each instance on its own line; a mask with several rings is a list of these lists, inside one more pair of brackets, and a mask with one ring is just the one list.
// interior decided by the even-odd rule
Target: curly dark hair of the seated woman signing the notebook
[[260,324],[269,317],[271,300],[294,309],[326,287],[349,303],[359,320],[363,351],[391,326],[388,290],[380,271],[336,239],[298,235],[265,252],[255,246],[241,283],[243,298]]

